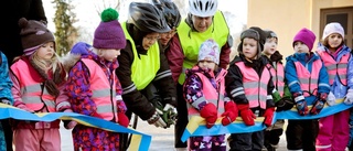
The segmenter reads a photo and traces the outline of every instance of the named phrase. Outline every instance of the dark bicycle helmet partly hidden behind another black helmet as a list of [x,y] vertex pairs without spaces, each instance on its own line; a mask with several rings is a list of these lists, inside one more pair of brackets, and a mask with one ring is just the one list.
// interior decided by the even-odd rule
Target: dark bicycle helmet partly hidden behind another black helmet
[[178,28],[181,21],[181,15],[174,2],[171,0],[151,0],[150,2],[162,11],[170,29]]

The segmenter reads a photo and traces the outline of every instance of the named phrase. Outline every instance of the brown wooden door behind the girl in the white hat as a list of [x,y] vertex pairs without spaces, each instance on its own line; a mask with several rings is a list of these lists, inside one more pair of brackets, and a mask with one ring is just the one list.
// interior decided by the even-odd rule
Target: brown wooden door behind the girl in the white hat
[[321,9],[320,18],[320,39],[322,37],[322,31],[325,24],[330,22],[339,22],[344,28],[345,44],[353,48],[353,7]]

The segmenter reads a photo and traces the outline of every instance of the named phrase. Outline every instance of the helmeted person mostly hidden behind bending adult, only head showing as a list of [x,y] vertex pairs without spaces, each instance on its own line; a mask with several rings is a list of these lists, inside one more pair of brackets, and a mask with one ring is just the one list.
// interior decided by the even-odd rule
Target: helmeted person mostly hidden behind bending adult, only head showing
[[164,53],[168,53],[169,42],[176,33],[176,28],[179,26],[179,23],[181,21],[179,9],[171,0],[151,0],[150,3],[162,11],[167,24],[171,29],[170,32],[161,33],[161,37],[159,39],[160,43],[163,46]]

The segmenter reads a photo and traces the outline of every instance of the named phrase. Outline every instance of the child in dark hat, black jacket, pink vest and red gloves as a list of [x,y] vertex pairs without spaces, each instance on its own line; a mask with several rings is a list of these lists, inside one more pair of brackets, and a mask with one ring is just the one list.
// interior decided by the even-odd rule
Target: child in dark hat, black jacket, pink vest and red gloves
[[[227,94],[237,104],[246,126],[255,125],[256,116],[265,117],[264,125],[267,127],[274,119],[271,94],[275,87],[268,69],[270,65],[261,55],[261,47],[260,34],[254,29],[245,30],[237,48],[239,56],[232,61],[226,75]],[[263,145],[263,130],[231,134],[231,151],[259,151]]]

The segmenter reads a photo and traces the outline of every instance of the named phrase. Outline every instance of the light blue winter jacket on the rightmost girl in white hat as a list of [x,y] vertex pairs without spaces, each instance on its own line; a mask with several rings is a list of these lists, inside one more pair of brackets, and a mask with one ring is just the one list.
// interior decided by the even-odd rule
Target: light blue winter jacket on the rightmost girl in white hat
[[[344,55],[349,55],[346,68],[344,68],[346,71],[346,73],[336,72],[339,75],[334,76],[332,84],[330,83],[330,85],[331,85],[330,90],[334,94],[335,98],[343,98],[345,96],[347,89],[353,88],[353,82],[349,80],[349,79],[353,79],[353,68],[352,68],[353,67],[353,58],[352,58],[350,47],[343,45],[339,51],[340,52],[338,52],[336,57],[334,57],[330,53],[328,47],[323,46],[322,44],[319,44],[319,46],[318,46],[318,54],[321,56],[321,60],[323,63],[328,62],[328,60],[333,60],[336,63],[339,63]],[[324,56],[328,56],[328,58]],[[327,64],[325,64],[325,67],[329,72]],[[344,85],[340,82],[340,80],[342,80],[342,78],[339,78],[339,76],[345,76],[346,85]]]

